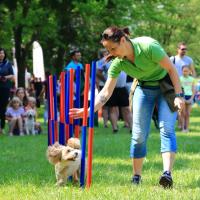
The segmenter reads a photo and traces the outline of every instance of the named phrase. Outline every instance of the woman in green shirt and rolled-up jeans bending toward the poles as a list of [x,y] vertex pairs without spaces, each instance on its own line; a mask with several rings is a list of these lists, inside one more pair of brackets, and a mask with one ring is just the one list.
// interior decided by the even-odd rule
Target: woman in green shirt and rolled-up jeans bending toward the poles
[[[176,112],[172,112],[164,99],[159,80],[168,73],[173,83],[176,98],[175,106],[184,106],[182,90],[176,69],[160,44],[150,37],[129,39],[126,32],[118,27],[109,27],[102,34],[101,43],[114,57],[108,70],[104,88],[95,99],[95,111],[100,109],[111,96],[121,71],[139,80],[133,96],[133,127],[130,156],[133,159],[133,184],[141,180],[143,160],[146,156],[146,142],[150,130],[151,116],[155,103],[158,106],[159,128],[163,174],[159,183],[163,187],[173,184],[171,171],[176,153],[175,122]],[[83,117],[83,108],[71,109],[74,118]]]

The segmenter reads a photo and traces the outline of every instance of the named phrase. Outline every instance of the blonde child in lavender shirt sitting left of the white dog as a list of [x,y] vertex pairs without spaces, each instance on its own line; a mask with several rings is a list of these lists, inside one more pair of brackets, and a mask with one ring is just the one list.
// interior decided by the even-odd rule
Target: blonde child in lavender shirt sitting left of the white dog
[[22,106],[22,102],[18,97],[13,97],[11,99],[5,115],[9,124],[9,135],[13,136],[13,130],[16,126],[18,126],[19,135],[23,136],[24,108]]

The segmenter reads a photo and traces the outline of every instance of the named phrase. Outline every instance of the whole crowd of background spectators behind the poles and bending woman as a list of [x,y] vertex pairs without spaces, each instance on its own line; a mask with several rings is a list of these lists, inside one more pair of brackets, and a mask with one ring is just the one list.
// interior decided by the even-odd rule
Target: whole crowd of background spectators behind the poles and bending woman
[[[178,128],[183,132],[189,132],[189,117],[192,105],[200,102],[200,83],[196,79],[196,71],[193,59],[186,55],[187,45],[181,42],[177,45],[177,54],[171,56],[170,59],[176,67],[182,89],[184,91],[185,109],[179,113]],[[97,77],[96,88],[100,91],[107,79],[107,71],[111,64],[106,61],[108,55],[107,50],[100,49],[97,58]],[[77,49],[69,52],[70,60],[64,70],[71,68],[81,68],[81,107],[83,106],[83,89],[84,89],[84,64],[81,63],[81,52]],[[46,73],[48,77],[49,73]],[[47,81],[41,81],[40,77],[34,77],[26,71],[25,88],[15,87],[15,76],[12,63],[7,59],[6,51],[0,48],[0,134],[4,132],[5,122],[8,122],[8,134],[24,135],[29,134],[26,130],[26,119],[30,110],[34,110],[33,121],[34,131],[32,134],[41,132],[41,125],[37,122],[37,108],[41,103],[44,104],[44,123],[48,120],[47,105]],[[123,127],[131,133],[132,129],[132,113],[129,109],[129,92],[133,82],[133,78],[127,76],[125,72],[121,72],[116,88],[109,99],[103,106],[101,115],[105,128],[109,127],[109,121],[112,132],[116,134],[119,131],[118,121],[122,120]],[[59,102],[59,81],[57,84],[57,95]],[[3,94],[3,95],[2,95]],[[58,105],[59,106],[59,105]],[[59,108],[58,108],[59,109]],[[157,127],[157,112],[154,110],[153,120]],[[98,114],[95,115],[95,124],[98,125]],[[158,128],[158,127],[157,127]],[[28,133],[27,133],[28,132]]]

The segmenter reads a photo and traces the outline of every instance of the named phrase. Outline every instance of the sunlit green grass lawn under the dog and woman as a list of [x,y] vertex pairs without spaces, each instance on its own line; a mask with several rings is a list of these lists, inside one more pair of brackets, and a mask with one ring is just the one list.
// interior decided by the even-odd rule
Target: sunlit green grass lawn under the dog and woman
[[[42,110],[41,110],[42,112]],[[41,113],[40,113],[41,115]],[[42,121],[42,119],[40,119]],[[160,138],[152,125],[148,155],[140,186],[130,183],[132,163],[129,158],[131,135],[122,128],[113,135],[111,129],[95,129],[93,179],[89,190],[68,183],[55,187],[54,168],[45,157],[46,129],[39,136],[0,137],[0,200],[129,200],[129,199],[200,199],[200,107],[194,108],[189,134],[177,131],[178,153],[173,171],[174,188],[158,185],[162,173]]]

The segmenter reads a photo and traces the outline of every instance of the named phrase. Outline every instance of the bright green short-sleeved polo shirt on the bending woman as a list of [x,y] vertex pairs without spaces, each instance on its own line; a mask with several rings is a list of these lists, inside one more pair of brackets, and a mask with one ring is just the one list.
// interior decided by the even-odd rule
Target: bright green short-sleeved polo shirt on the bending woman
[[[149,81],[147,85],[158,85],[158,80],[166,74],[159,62],[166,56],[160,44],[150,37],[131,39],[134,48],[134,63],[127,59],[115,58],[108,70],[108,77],[117,78],[121,71],[140,81]],[[155,81],[156,84],[152,84]]]

